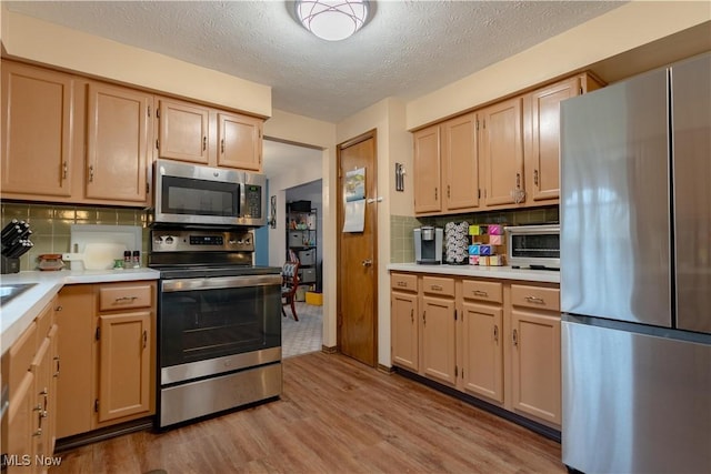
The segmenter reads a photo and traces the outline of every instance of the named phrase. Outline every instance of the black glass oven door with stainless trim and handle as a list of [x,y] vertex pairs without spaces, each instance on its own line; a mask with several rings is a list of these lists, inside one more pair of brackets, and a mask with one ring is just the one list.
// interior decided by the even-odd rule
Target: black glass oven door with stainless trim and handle
[[281,276],[163,280],[161,385],[281,360]]

